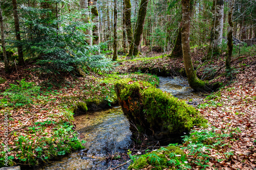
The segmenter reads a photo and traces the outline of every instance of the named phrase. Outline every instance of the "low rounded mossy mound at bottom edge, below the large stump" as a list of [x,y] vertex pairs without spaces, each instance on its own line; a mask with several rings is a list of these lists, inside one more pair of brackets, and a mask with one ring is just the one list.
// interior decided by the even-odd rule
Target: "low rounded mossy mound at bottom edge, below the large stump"
[[184,164],[186,156],[179,147],[169,146],[135,159],[128,169],[178,169],[180,164]]

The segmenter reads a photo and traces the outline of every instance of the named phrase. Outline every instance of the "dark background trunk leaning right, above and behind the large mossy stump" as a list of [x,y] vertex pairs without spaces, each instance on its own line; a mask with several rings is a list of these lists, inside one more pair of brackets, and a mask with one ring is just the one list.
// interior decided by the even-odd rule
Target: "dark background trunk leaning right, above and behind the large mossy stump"
[[147,9],[148,0],[141,0],[138,18],[136,22],[136,29],[134,32],[133,43],[130,48],[129,55],[137,56],[139,54],[139,46],[143,34],[144,23],[146,18],[146,9]]

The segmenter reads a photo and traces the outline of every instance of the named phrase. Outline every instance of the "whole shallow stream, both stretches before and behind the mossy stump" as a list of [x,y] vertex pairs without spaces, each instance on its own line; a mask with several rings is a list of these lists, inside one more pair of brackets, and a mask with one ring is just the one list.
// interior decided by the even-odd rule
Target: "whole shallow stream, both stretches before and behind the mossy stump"
[[[193,92],[183,78],[159,77],[159,88],[172,93],[179,99],[185,100],[188,104],[196,105],[203,99],[203,94]],[[191,100],[193,99],[193,100]],[[40,170],[52,169],[108,169],[116,167],[125,162],[125,159],[109,160],[106,157],[119,153],[126,153],[132,144],[132,132],[129,121],[123,115],[121,107],[114,107],[98,112],[89,112],[75,116],[76,130],[81,140],[86,140],[81,151],[63,157],[59,161],[49,162]],[[129,163],[118,168],[127,169]]]

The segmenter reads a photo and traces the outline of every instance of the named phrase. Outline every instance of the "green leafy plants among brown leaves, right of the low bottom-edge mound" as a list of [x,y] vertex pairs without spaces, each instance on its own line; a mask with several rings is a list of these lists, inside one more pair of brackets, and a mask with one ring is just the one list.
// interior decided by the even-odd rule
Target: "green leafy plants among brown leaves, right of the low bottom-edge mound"
[[[233,129],[230,132],[215,127],[193,130],[189,135],[183,136],[184,143],[181,149],[188,153],[187,157],[191,166],[206,169],[210,161],[229,160],[233,152],[229,151],[231,145],[226,140],[236,140],[233,137],[237,134],[238,129]],[[212,153],[215,154],[212,155]]]

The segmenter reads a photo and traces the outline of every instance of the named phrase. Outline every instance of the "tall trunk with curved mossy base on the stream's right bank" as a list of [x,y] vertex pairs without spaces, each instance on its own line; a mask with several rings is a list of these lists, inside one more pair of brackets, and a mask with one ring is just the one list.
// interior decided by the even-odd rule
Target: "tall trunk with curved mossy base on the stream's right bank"
[[185,71],[188,79],[189,86],[197,91],[210,90],[204,81],[198,79],[194,70],[189,45],[189,33],[190,33],[190,0],[182,0],[182,30],[181,30],[181,42],[182,42],[182,54],[184,60]]

